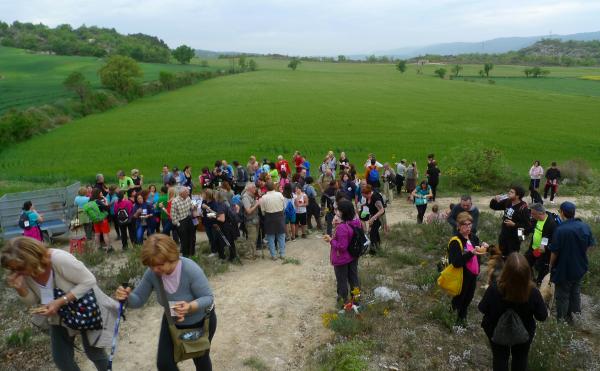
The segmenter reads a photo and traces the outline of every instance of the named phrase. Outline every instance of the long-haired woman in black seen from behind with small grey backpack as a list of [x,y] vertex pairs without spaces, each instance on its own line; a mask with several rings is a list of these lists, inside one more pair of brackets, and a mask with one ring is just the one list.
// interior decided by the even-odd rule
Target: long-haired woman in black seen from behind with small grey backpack
[[[494,341],[501,340],[494,337],[495,329],[502,315],[509,309],[518,315],[529,335],[522,343],[516,338],[512,339],[515,342],[512,346],[500,345]],[[531,279],[531,268],[523,255],[512,253],[506,258],[498,283],[485,291],[479,302],[479,311],[483,313],[481,327],[492,348],[494,371],[508,370],[511,354],[511,370],[526,370],[529,347],[535,336],[535,320],[545,321],[548,310]]]

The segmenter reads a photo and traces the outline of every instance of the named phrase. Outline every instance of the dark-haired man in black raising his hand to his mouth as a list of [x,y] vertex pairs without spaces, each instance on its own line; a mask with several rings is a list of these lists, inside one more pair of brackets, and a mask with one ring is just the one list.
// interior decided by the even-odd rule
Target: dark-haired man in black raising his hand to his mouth
[[530,228],[530,213],[527,203],[523,201],[525,190],[521,186],[511,186],[508,194],[499,195],[490,201],[492,210],[502,210],[502,229],[498,237],[498,245],[502,256],[519,252],[521,241]]

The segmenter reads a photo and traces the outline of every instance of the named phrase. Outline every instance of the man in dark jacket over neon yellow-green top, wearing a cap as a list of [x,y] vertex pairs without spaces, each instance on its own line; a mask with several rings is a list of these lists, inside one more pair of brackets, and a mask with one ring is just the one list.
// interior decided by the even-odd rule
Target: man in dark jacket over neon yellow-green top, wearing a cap
[[540,285],[548,274],[548,264],[550,264],[548,246],[552,243],[556,222],[554,216],[546,211],[544,205],[532,204],[529,208],[531,210],[531,226],[527,230],[527,234],[533,233],[533,238],[525,257],[529,266],[538,272],[535,282]]

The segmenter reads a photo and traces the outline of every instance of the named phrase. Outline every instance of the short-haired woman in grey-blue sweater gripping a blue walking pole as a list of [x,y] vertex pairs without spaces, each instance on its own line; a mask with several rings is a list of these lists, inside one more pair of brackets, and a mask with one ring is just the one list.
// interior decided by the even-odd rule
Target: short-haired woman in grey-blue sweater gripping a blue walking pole
[[[146,303],[152,291],[161,305],[160,283],[165,289],[170,315],[177,318],[177,327],[181,329],[201,328],[204,320],[209,319],[208,338],[212,338],[217,329],[217,315],[214,310],[213,294],[202,268],[193,260],[179,256],[175,241],[164,234],[153,234],[142,247],[142,263],[148,267],[141,282],[135,288],[119,287],[118,300],[127,300],[129,308],[140,308]],[[173,341],[169,333],[167,318],[163,314],[158,340],[156,359],[158,370],[178,370],[173,356]],[[196,370],[210,371],[210,351],[202,357],[194,358]]]

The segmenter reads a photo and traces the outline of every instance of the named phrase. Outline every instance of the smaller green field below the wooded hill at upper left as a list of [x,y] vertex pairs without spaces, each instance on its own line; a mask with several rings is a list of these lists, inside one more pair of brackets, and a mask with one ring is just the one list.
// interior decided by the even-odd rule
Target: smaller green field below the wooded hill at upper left
[[[0,114],[9,108],[24,108],[72,96],[62,82],[73,71],[80,71],[100,87],[98,69],[103,59],[34,54],[23,49],[0,46]],[[141,63],[144,80],[158,80],[160,71],[206,71],[215,67],[178,64]]]

